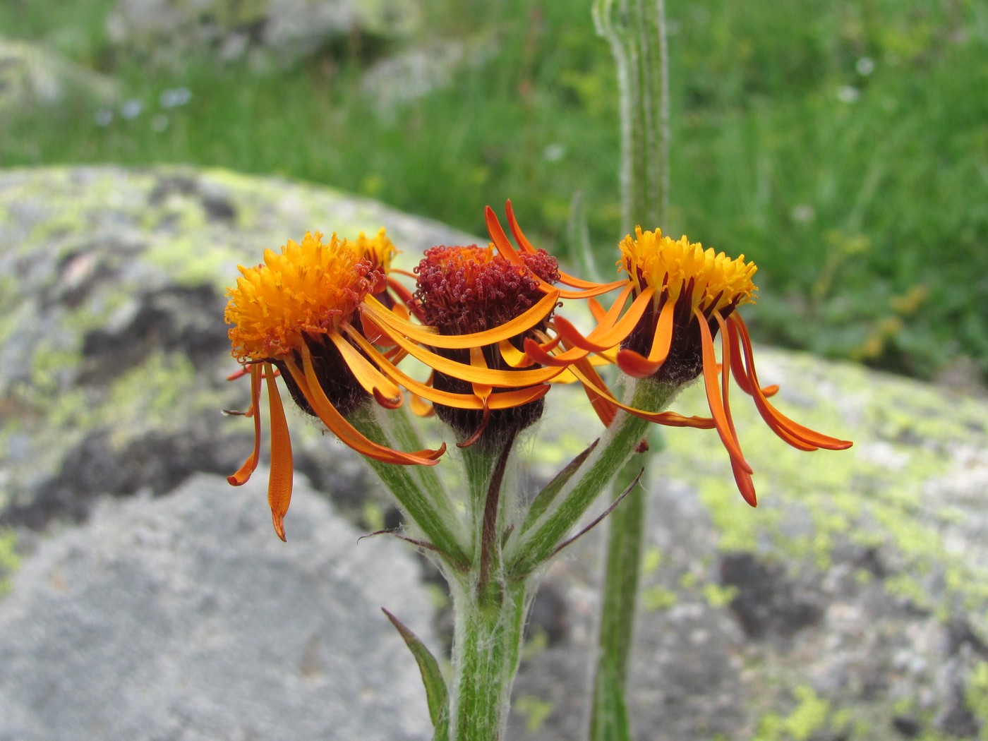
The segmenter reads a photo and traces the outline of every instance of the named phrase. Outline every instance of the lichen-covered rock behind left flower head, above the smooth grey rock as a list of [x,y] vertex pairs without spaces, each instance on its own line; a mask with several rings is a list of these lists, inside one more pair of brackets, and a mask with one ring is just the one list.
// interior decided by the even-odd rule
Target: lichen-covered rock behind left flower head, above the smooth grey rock
[[[259,188],[260,187],[260,188]],[[406,267],[474,239],[371,201],[182,168],[0,171],[0,524],[83,520],[96,494],[167,493],[232,473],[252,426],[226,376],[225,287],[306,230],[382,225]],[[351,512],[380,494],[356,456],[292,424],[296,468]],[[380,501],[384,501],[380,498]]]

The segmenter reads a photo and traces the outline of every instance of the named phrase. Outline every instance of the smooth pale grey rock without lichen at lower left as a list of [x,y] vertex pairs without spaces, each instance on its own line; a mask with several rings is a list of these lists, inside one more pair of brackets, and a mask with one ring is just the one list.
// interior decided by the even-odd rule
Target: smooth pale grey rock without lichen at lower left
[[290,540],[264,486],[198,475],[101,499],[0,600],[0,739],[428,739],[415,662],[385,606],[431,640],[414,554],[301,485]]

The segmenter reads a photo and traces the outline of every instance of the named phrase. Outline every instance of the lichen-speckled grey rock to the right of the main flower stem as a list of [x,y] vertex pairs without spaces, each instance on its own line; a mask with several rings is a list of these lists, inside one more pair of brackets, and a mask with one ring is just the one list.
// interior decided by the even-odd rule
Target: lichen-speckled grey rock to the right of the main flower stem
[[[792,451],[738,394],[753,510],[715,435],[665,431],[650,471],[633,738],[983,738],[988,403],[848,364],[756,355],[764,382],[782,385],[783,410],[855,447]],[[564,435],[591,424],[549,397],[547,416],[569,420]],[[699,412],[701,389],[673,408]],[[547,572],[568,631],[523,666],[511,738],[585,734],[602,546],[591,534]]]

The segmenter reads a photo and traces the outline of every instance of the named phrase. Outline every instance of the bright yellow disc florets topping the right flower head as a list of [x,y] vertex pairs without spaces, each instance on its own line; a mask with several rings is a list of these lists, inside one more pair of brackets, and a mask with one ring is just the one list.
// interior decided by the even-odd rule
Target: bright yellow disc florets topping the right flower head
[[633,239],[628,235],[619,246],[617,266],[628,274],[637,293],[646,286],[655,288],[656,301],[663,290],[678,301],[691,282],[692,309],[717,311],[755,301],[758,288],[751,277],[758,267],[746,263],[744,255],[729,258],[712,248],[704,250],[700,242],[685,236],[677,241],[663,236],[660,229],[643,232],[640,226],[635,227]]

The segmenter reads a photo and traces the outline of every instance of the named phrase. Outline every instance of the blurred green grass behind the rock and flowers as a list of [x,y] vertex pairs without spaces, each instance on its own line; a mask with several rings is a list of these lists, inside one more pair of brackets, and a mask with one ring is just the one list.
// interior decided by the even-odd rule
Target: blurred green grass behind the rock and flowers
[[[603,262],[623,236],[617,83],[589,0],[431,0],[419,41],[463,40],[476,63],[387,110],[362,91],[367,49],[267,71],[194,57],[156,69],[110,52],[112,5],[0,4],[6,38],[41,41],[142,105],[106,125],[84,100],[7,116],[0,163],[276,173],[477,234],[483,206],[511,198],[530,236],[563,252],[579,191]],[[759,339],[924,378],[966,368],[984,384],[988,6],[667,0],[667,15],[667,231],[758,263],[762,300],[746,316]],[[161,110],[180,87],[189,102]]]

